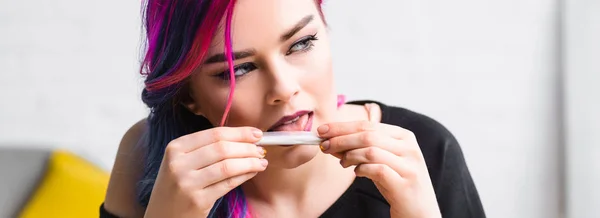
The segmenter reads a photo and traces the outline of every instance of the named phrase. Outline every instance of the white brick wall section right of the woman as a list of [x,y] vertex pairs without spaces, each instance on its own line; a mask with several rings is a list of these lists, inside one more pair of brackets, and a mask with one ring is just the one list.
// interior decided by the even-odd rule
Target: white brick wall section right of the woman
[[328,9],[344,93],[450,128],[489,217],[559,217],[553,1],[345,0]]

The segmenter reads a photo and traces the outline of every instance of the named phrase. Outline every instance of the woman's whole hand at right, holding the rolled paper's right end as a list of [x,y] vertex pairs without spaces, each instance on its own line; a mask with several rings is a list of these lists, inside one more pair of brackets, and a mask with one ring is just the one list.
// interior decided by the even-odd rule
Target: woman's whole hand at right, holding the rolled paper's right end
[[330,123],[317,131],[324,153],[356,166],[390,203],[391,217],[441,217],[425,159],[415,135],[401,127],[368,121]]

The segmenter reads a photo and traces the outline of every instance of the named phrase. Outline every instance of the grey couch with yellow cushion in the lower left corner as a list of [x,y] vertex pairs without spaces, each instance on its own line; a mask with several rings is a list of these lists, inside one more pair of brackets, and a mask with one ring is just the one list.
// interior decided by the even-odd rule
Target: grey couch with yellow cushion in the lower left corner
[[69,151],[0,147],[0,218],[98,217],[108,179]]

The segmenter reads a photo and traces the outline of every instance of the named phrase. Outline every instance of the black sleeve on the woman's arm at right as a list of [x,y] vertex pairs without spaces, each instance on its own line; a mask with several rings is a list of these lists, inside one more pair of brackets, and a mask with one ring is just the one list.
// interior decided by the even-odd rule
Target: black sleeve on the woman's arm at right
[[456,138],[442,124],[402,108],[390,108],[399,126],[411,130],[425,157],[443,218],[485,218],[485,212]]

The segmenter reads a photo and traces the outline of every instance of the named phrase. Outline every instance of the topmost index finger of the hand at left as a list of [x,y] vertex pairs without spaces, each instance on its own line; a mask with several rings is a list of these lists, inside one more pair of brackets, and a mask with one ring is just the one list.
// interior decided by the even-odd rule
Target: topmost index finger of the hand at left
[[256,143],[261,137],[262,131],[254,127],[216,127],[182,136],[170,146],[187,153],[218,141]]

